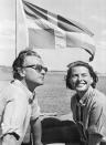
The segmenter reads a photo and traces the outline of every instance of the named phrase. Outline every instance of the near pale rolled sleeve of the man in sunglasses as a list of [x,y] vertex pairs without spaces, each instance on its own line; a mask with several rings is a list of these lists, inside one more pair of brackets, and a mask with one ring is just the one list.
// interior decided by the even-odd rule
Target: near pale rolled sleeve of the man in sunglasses
[[14,99],[9,100],[3,115],[2,134],[15,132],[19,136],[22,136],[22,125],[26,111],[28,100],[25,96],[15,94]]

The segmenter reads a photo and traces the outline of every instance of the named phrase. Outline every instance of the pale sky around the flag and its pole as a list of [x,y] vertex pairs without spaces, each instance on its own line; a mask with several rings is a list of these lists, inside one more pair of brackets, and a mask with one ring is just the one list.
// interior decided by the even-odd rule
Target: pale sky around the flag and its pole
[[[0,65],[11,65],[15,58],[15,1],[18,3],[19,0],[0,0]],[[92,64],[98,72],[106,73],[106,0],[30,0],[30,2],[88,28],[94,33],[96,44],[96,54]],[[20,30],[17,45],[23,48],[26,38],[19,6],[17,13]],[[85,52],[78,53],[77,50],[68,49],[52,53],[49,50],[44,52],[39,50],[39,52],[50,69],[59,70],[64,69],[77,56],[86,58]]]

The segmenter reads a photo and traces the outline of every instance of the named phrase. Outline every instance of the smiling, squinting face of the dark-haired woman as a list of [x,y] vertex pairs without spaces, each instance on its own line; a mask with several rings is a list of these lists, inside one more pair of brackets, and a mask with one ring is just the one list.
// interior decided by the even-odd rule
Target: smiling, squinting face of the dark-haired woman
[[71,84],[77,92],[86,92],[93,83],[93,77],[85,66],[75,66],[72,69]]

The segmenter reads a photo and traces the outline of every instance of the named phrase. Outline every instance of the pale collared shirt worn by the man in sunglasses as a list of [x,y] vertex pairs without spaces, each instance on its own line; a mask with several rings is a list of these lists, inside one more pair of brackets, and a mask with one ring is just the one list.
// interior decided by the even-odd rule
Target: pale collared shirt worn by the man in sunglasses
[[0,93],[1,136],[14,132],[22,142],[30,120],[39,115],[38,99],[19,80]]

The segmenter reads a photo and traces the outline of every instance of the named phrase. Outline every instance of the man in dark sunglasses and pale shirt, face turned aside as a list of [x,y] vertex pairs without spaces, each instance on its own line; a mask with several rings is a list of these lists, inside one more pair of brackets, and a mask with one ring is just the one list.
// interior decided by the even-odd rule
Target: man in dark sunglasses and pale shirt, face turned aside
[[12,64],[13,81],[0,93],[0,124],[2,145],[20,145],[31,123],[33,145],[41,143],[40,106],[35,87],[44,83],[47,71],[41,56],[32,51],[19,53]]

